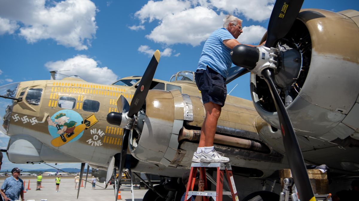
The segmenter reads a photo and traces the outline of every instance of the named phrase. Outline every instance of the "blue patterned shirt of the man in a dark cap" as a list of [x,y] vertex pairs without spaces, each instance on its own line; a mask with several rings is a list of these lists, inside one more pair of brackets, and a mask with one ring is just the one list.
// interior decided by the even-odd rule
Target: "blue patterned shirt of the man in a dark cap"
[[10,198],[10,200],[19,200],[20,192],[24,190],[24,182],[20,178],[15,180],[11,176],[4,180],[1,189],[4,190],[6,197]]

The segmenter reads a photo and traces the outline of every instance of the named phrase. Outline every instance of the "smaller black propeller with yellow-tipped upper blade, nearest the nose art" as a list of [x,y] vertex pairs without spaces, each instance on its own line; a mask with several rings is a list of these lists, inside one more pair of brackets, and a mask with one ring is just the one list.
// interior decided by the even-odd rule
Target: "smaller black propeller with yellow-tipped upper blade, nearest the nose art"
[[[118,164],[119,170],[118,170],[118,182],[117,182],[118,185],[116,189],[116,198],[118,195],[118,190],[120,189],[120,185],[121,185],[122,170],[123,167],[125,166],[127,148],[129,143],[129,134],[133,127],[134,116],[137,112],[140,111],[142,105],[145,102],[146,96],[151,86],[153,76],[156,72],[159,59],[160,59],[160,53],[159,50],[156,50],[141,78],[139,85],[137,86],[134,96],[132,97],[130,107],[128,107],[127,100],[121,95],[117,99],[117,108],[118,111],[121,111],[122,113],[110,112],[107,115],[108,123],[125,128],[122,137],[121,158],[120,158],[120,163]],[[128,108],[128,112],[125,112],[127,111],[127,108]]]

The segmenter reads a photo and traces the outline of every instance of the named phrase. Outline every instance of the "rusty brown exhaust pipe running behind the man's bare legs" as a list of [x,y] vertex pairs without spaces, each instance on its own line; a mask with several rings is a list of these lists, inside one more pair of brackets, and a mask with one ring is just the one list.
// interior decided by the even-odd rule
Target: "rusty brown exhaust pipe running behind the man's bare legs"
[[[185,127],[182,127],[180,134],[178,135],[178,142],[183,139],[188,139],[190,141],[199,141],[201,137],[200,130],[188,130]],[[232,147],[250,149],[256,152],[269,153],[270,149],[260,142],[255,142],[249,139],[243,139],[238,137],[224,136],[221,134],[214,135],[214,143],[224,144]]]

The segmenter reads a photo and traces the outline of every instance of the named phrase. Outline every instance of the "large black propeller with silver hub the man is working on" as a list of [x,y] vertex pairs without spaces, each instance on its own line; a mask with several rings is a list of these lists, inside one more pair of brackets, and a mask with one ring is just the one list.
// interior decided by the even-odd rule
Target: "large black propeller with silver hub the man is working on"
[[[278,40],[283,38],[292,28],[303,1],[277,0],[269,20],[265,47],[252,48],[246,45],[237,45],[232,49],[231,55],[234,64],[251,70],[268,84],[278,113],[285,153],[288,158],[289,167],[292,170],[299,199],[301,201],[315,201],[297,136],[295,136],[292,122],[274,83],[274,70],[276,69],[275,54],[278,53],[276,52],[278,50],[273,48],[276,47]],[[263,62],[264,58],[267,59],[267,63]]]

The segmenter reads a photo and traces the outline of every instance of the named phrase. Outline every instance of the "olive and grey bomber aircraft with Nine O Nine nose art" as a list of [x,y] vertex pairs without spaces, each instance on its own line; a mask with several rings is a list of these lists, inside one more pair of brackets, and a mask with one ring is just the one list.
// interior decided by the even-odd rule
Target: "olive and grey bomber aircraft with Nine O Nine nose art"
[[[332,179],[359,176],[359,12],[301,5],[277,1],[261,41],[266,45],[233,49],[233,63],[244,68],[232,68],[227,83],[250,70],[252,101],[227,96],[214,146],[229,157],[240,198],[260,196],[260,183],[278,181],[284,168],[294,172],[299,195],[306,193],[295,178],[301,166],[293,166],[301,156],[307,164],[326,164]],[[191,166],[205,109],[193,72],[153,79],[159,58],[157,51],[142,77],[112,85],[67,77],[0,87],[9,102],[2,125],[9,160],[88,163],[109,177],[127,163],[132,172],[176,183]],[[290,129],[293,142],[286,141]],[[143,200],[154,200],[154,191],[163,200],[168,192],[158,185]],[[177,194],[173,200],[183,188]]]

